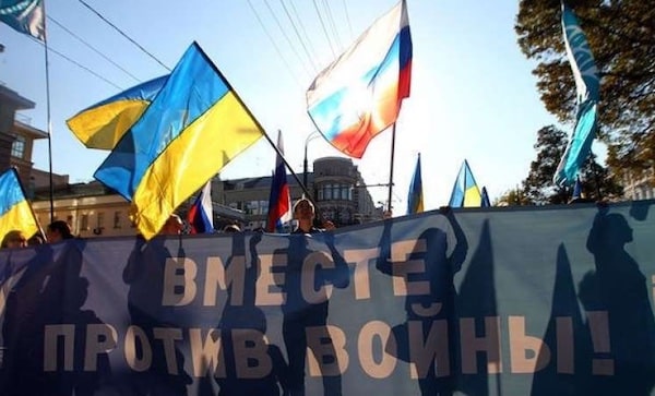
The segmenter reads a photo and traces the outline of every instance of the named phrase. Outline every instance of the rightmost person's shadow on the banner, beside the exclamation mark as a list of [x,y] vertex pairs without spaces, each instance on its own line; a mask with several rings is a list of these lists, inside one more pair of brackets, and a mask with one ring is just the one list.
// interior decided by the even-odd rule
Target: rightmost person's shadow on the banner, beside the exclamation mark
[[626,218],[600,204],[586,243],[596,272],[581,296],[592,341],[599,341],[592,343],[597,395],[650,395],[655,385],[655,319],[646,277],[624,249],[630,242]]

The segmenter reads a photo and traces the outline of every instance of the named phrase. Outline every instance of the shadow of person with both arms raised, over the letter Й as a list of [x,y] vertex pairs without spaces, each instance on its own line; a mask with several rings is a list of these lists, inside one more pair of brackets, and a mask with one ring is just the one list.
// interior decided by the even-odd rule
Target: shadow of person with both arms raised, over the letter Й
[[[440,212],[448,218],[454,237],[454,247],[449,245],[449,231],[427,228],[404,263],[391,260],[392,221],[385,220],[381,254],[377,268],[390,276],[407,276],[413,285],[405,298],[406,320],[392,328],[395,345],[385,351],[398,359],[414,363],[418,375],[420,394],[452,395],[456,388],[458,361],[458,337],[456,326],[454,275],[461,269],[468,242],[450,207]],[[451,252],[449,254],[449,251]],[[417,263],[425,263],[421,268]],[[403,274],[405,271],[412,274]]]

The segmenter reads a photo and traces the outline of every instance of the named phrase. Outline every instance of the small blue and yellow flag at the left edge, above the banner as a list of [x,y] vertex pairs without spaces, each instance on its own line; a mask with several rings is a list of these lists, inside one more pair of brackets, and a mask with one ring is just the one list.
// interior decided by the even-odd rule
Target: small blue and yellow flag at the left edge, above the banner
[[23,231],[29,238],[39,229],[16,170],[9,169],[0,175],[0,239],[12,230]]

